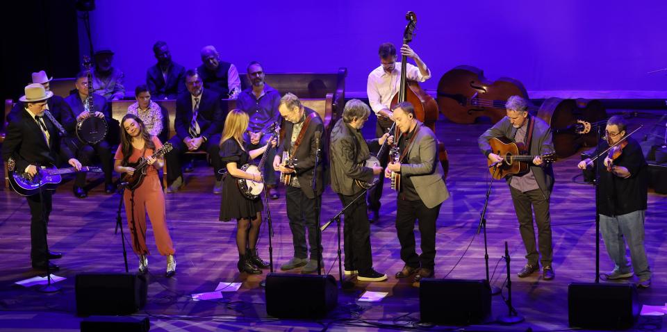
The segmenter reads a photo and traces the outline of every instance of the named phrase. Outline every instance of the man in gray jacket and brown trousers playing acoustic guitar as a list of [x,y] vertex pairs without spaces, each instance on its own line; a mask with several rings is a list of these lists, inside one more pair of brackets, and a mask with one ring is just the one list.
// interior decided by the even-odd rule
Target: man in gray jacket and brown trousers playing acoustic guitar
[[[551,191],[554,188],[554,169],[550,163],[544,163],[540,157],[555,151],[551,128],[542,119],[529,115],[527,101],[519,96],[509,97],[505,108],[507,116],[481,134],[477,139],[477,144],[493,163],[502,163],[503,158],[491,151],[491,144],[488,140],[503,136],[513,142],[523,142],[528,153],[536,156],[530,163],[527,173],[507,176],[505,180],[509,185],[528,260],[526,266],[517,275],[523,278],[538,271],[540,269],[538,260],[540,260],[541,253],[542,277],[544,280],[551,280],[556,275],[552,267],[553,249],[549,212]],[[535,245],[533,210],[538,229],[539,253]]]

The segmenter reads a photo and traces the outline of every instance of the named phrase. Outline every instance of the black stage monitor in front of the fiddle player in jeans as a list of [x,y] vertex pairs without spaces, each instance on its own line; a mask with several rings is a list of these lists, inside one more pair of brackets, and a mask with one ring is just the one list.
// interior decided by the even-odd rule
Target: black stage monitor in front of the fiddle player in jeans
[[568,286],[571,327],[629,329],[638,316],[637,289],[632,283],[570,283]]

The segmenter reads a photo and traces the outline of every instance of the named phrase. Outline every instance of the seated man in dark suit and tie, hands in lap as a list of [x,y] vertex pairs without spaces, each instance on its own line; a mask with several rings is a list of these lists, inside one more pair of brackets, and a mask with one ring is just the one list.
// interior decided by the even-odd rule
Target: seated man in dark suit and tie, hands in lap
[[176,192],[183,184],[181,172],[181,155],[187,151],[204,150],[211,158],[215,185],[213,193],[222,192],[222,160],[220,159],[220,142],[224,113],[220,108],[220,94],[204,89],[199,74],[194,69],[186,72],[186,88],[188,92],[176,99],[176,118],[174,128],[176,135],[169,140],[174,146],[167,153],[167,192]]

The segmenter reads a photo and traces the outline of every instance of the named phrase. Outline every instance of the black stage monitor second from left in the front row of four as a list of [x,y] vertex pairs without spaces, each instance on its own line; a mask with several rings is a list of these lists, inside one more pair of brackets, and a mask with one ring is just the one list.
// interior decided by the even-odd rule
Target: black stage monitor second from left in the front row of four
[[338,304],[331,275],[270,273],[265,292],[266,313],[272,317],[321,318]]

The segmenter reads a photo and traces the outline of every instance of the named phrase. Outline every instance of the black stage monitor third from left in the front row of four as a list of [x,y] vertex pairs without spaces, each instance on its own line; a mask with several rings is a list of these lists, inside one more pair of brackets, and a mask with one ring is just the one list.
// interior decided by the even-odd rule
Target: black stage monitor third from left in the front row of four
[[422,322],[484,323],[491,319],[491,287],[486,280],[423,279],[419,311]]

